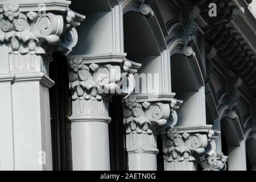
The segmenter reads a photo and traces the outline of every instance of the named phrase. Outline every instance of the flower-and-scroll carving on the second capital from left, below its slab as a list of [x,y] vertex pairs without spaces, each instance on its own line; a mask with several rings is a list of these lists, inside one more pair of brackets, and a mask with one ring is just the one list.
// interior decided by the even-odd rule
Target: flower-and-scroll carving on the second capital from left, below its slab
[[84,64],[81,57],[68,60],[69,87],[72,100],[102,100],[111,94],[128,94],[122,89],[127,78],[129,84],[132,64],[128,60],[122,63]]

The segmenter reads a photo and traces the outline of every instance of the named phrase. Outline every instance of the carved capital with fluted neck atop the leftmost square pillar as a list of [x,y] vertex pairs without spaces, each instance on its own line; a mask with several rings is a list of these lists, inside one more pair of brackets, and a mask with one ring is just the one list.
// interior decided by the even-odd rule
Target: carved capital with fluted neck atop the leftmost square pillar
[[[28,5],[20,6],[15,2],[3,4],[0,14],[0,44],[9,46],[10,71],[43,72],[48,75],[52,52],[71,53],[77,43],[75,27],[85,16],[68,7],[40,12],[39,7],[35,6],[34,10],[30,7],[30,11],[27,11]],[[66,1],[60,1],[59,6],[61,3],[67,6]],[[47,10],[52,5],[44,6]]]

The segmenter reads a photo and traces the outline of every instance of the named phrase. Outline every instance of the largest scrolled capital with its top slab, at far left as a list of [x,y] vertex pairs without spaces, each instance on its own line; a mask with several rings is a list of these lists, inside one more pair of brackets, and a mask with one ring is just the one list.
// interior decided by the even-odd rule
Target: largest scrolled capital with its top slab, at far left
[[[9,53],[16,56],[49,58],[54,50],[68,55],[77,43],[75,27],[85,19],[69,10],[70,3],[64,0],[0,2],[0,43],[8,44]],[[20,65],[25,61],[18,62],[13,69],[25,69]],[[36,67],[27,64],[28,70]]]

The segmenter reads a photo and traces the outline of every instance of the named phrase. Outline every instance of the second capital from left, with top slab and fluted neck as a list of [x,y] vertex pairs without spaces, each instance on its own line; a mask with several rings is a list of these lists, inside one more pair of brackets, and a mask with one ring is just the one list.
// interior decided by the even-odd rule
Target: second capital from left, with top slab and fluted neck
[[109,98],[132,92],[129,85],[134,84],[133,73],[141,67],[125,59],[125,54],[71,56],[68,65],[73,115],[106,116]]

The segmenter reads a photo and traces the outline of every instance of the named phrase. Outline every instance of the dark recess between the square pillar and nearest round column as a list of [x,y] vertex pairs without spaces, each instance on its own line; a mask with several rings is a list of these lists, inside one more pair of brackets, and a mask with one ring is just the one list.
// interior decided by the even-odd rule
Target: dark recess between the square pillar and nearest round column
[[71,155],[71,93],[69,92],[68,66],[66,57],[53,53],[49,66],[49,77],[55,86],[49,89],[51,108],[53,170],[72,170]]

